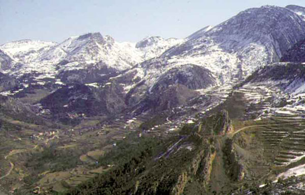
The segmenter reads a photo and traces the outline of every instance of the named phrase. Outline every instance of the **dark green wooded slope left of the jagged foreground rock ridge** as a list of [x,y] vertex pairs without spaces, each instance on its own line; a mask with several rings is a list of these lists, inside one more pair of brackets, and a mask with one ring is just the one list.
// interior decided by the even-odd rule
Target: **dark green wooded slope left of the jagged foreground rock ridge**
[[114,167],[66,194],[128,194],[161,145],[162,141],[155,138],[135,136],[117,142],[115,148],[99,160],[100,166]]

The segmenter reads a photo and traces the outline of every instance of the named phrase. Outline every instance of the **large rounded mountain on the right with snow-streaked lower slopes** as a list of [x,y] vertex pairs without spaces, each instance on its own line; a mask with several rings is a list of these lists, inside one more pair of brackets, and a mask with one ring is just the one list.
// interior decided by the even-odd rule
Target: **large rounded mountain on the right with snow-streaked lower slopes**
[[[175,85],[197,90],[237,83],[259,67],[279,62],[285,51],[303,37],[305,23],[289,9],[252,8],[215,27],[195,32],[159,57],[112,78],[111,83],[124,85],[126,103],[145,110],[153,102],[149,97],[160,94],[160,90],[154,90],[160,86],[161,91]],[[193,81],[200,85],[190,87]]]

